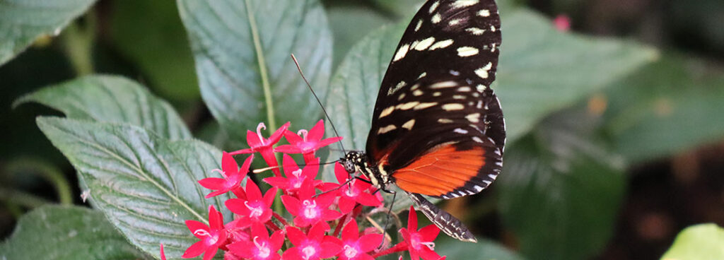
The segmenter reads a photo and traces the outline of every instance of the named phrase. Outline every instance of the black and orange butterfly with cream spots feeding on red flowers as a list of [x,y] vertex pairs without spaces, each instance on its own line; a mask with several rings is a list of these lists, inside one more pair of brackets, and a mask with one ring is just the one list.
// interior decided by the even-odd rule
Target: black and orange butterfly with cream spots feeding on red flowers
[[490,89],[500,17],[494,0],[430,0],[397,46],[377,94],[366,153],[345,169],[380,190],[395,184],[447,235],[476,242],[460,220],[424,196],[479,193],[502,168],[505,121]]

